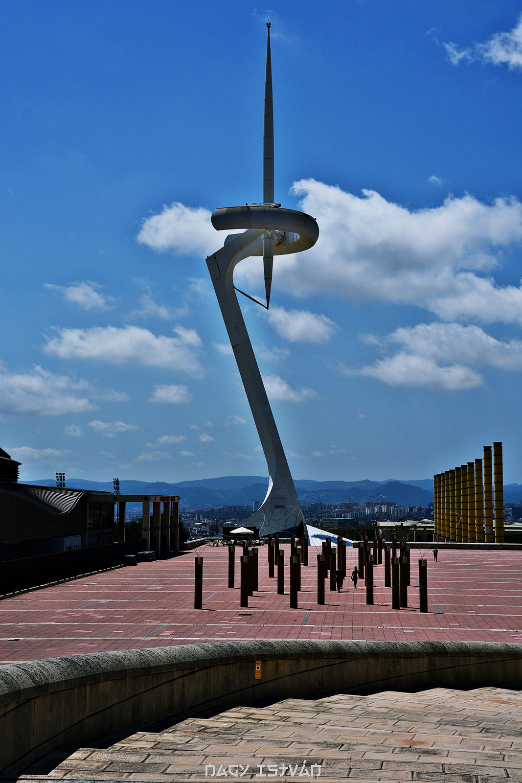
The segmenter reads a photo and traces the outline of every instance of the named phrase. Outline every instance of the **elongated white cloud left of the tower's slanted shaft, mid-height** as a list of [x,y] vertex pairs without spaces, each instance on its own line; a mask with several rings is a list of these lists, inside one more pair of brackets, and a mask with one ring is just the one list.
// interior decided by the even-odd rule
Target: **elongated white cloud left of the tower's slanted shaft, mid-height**
[[142,364],[201,377],[203,368],[194,355],[194,349],[201,345],[196,331],[183,327],[174,331],[178,337],[157,337],[148,329],[131,326],[60,329],[56,337],[48,337],[44,350],[61,359]]

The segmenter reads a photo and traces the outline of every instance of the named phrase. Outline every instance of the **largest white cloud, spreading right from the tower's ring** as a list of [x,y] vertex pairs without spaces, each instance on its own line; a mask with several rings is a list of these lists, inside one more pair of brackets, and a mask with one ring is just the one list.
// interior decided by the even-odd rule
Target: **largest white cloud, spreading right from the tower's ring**
[[[520,244],[522,204],[515,197],[488,205],[450,196],[441,207],[409,211],[373,190],[359,198],[313,179],[296,182],[293,192],[321,234],[306,253],[279,256],[279,287],[301,296],[321,291],[419,305],[444,319],[522,323],[522,289],[476,274]],[[238,272],[248,278],[253,264],[243,262]]]

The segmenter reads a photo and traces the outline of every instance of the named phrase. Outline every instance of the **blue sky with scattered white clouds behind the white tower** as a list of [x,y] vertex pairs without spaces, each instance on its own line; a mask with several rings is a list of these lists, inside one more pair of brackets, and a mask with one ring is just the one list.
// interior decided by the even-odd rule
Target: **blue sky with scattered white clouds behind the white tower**
[[[0,446],[21,478],[266,474],[205,255],[319,222],[243,312],[295,478],[522,481],[522,2],[2,2]],[[237,270],[261,293],[259,259]]]

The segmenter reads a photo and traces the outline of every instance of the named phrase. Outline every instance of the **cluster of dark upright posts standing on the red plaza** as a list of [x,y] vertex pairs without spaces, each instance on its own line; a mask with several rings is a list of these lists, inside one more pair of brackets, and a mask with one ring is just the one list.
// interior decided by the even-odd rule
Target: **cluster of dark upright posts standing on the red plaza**
[[[301,546],[297,545],[295,536],[290,540],[290,608],[297,609],[298,594],[301,590],[301,565],[308,566],[308,536],[303,536]],[[373,568],[382,565],[384,552],[384,586],[391,587],[391,607],[401,609],[408,607],[408,587],[410,585],[410,547],[396,537],[391,543],[383,543],[376,537],[373,543],[365,541],[354,542],[352,546],[358,549],[358,576],[365,580],[366,604],[373,604],[374,579]],[[229,587],[236,586],[236,547],[229,546]],[[399,550],[399,557],[397,552]],[[194,558],[194,608],[203,608],[203,557]],[[277,568],[277,592],[285,594],[285,550],[279,548],[279,536],[268,536],[268,577],[275,578]],[[317,555],[317,603],[326,604],[325,581],[329,575],[329,590],[337,590],[337,574],[346,576],[346,543],[337,539],[337,549],[332,547],[332,539],[326,538],[322,543],[322,553]],[[258,588],[259,553],[257,547],[249,548],[243,545],[243,555],[240,557],[239,570],[239,605],[248,607],[249,596],[254,595]],[[419,611],[428,611],[427,561],[419,560]]]

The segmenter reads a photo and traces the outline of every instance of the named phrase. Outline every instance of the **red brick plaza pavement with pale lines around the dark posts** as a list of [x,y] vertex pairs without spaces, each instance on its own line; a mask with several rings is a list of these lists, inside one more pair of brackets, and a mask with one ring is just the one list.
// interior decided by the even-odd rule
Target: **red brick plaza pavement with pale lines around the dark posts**
[[[203,611],[193,609],[194,553],[167,561],[85,576],[0,601],[0,663],[83,652],[241,639],[365,639],[522,641],[522,552],[412,550],[409,608],[391,608],[383,566],[375,568],[375,604],[364,583],[347,579],[338,594],[326,583],[326,606],[316,603],[315,550],[302,568],[299,608],[268,579],[267,549],[259,550],[259,591],[249,608],[229,590],[228,550],[205,547]],[[429,612],[419,613],[416,559],[428,558]],[[347,572],[355,551],[347,550]],[[18,640],[19,639],[19,640]]]

